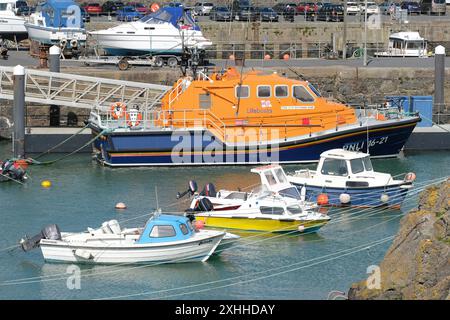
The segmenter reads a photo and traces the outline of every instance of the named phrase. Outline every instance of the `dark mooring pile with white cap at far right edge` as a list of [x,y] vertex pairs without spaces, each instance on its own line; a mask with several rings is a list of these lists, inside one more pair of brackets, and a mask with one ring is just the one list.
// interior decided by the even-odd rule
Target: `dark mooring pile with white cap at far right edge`
[[434,49],[434,103],[433,122],[439,124],[440,113],[445,106],[444,102],[445,83],[445,48],[437,46]]

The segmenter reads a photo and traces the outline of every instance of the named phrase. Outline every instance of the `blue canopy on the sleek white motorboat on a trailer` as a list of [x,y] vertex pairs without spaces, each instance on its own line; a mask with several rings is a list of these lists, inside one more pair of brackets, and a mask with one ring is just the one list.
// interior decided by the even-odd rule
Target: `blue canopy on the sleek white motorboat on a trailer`
[[200,30],[191,12],[183,7],[164,7],[142,17],[139,21],[148,24],[170,23],[177,29]]

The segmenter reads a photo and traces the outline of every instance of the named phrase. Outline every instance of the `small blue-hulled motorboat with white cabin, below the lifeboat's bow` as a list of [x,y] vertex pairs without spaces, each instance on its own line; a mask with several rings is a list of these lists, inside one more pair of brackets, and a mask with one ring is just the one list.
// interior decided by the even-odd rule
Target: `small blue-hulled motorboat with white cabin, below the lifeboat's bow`
[[320,155],[315,171],[297,170],[288,180],[308,200],[321,204],[400,208],[415,174],[410,172],[396,180],[388,173],[374,171],[367,153],[332,149]]

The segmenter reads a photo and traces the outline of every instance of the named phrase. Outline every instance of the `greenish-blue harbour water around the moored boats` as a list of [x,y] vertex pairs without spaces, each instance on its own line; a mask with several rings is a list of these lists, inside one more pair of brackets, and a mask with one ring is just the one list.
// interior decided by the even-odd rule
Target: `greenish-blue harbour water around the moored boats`
[[[10,156],[10,149],[9,143],[0,142],[0,159]],[[375,170],[392,175],[415,172],[420,186],[449,175],[450,152],[415,153],[373,163]],[[305,167],[289,165],[285,171]],[[40,250],[5,249],[51,223],[63,231],[82,231],[111,219],[128,227],[143,225],[149,217],[143,215],[158,205],[163,212],[181,213],[188,202],[176,200],[176,193],[184,191],[191,179],[199,188],[212,182],[220,189],[245,188],[256,184],[258,177],[245,166],[111,169],[87,154],[32,166],[29,173],[31,180],[25,186],[0,185],[2,299],[326,299],[330,291],[347,291],[352,282],[367,277],[367,268],[381,261],[399,220],[417,200],[407,198],[401,211],[333,209],[332,221],[317,234],[238,233],[242,238],[235,246],[206,263],[81,265],[80,289],[69,289],[70,265],[45,263]],[[50,180],[52,186],[42,188],[42,180]],[[128,209],[116,210],[117,202],[126,203]],[[374,245],[382,239],[386,241]],[[361,250],[358,246],[364,244]]]

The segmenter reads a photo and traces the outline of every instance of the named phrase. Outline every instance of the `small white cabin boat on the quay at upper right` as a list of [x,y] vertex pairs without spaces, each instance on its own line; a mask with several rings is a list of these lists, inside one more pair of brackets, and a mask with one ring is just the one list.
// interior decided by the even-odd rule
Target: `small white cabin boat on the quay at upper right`
[[428,57],[427,40],[418,32],[404,31],[389,36],[388,48],[375,52],[376,57]]

